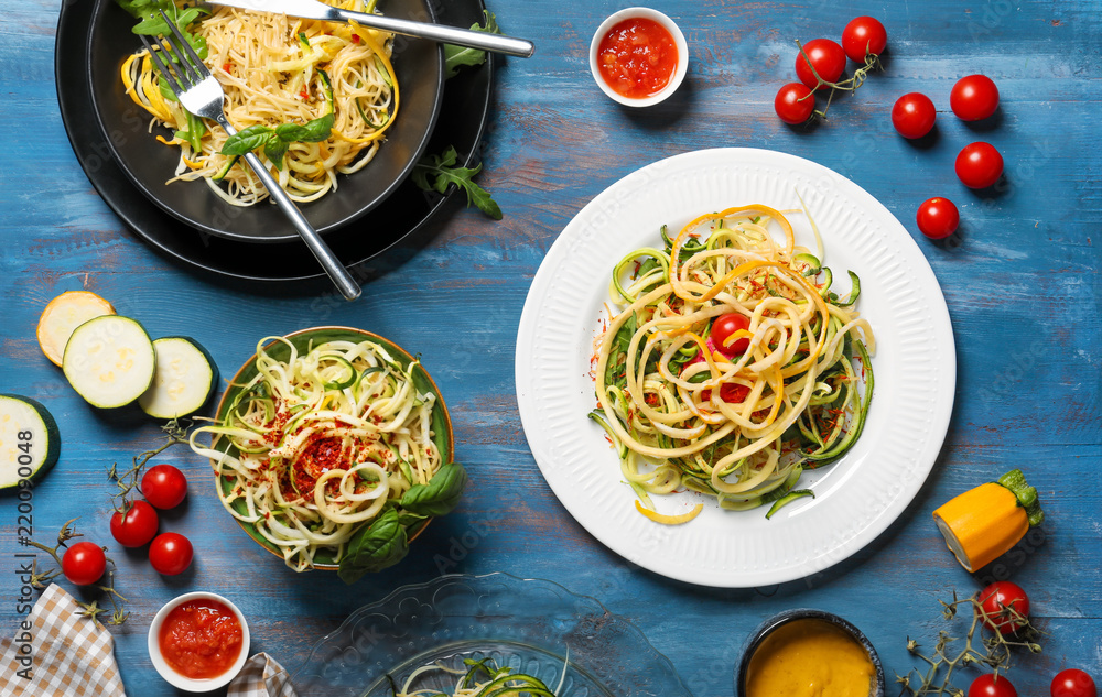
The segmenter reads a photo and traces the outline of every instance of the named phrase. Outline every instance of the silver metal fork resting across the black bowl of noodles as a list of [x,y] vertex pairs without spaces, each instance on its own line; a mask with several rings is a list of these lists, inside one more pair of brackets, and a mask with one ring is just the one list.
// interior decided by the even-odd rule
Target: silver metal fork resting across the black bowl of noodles
[[[176,57],[176,63],[172,64],[175,67],[175,72],[169,69],[169,64],[158,55],[159,51],[153,50],[153,45],[149,39],[141,36],[141,41],[145,44],[145,48],[149,50],[149,55],[153,64],[156,65],[161,75],[169,84],[169,88],[172,89],[172,94],[176,96],[185,109],[195,116],[217,121],[218,126],[224,128],[227,133],[234,135],[237,133],[237,129],[230,126],[222,108],[226,99],[222,85],[210,74],[210,70],[207,69],[203,61],[195,53],[195,50],[192,48],[187,40],[184,39],[184,35],[176,29],[176,24],[164,14],[163,10],[161,11],[161,17],[164,18],[165,23],[172,29],[173,35],[162,35],[162,39],[169,43],[172,54]],[[163,44],[159,45],[163,48]],[[341,291],[341,294],[349,301],[359,297],[360,287],[353,280],[352,274],[348,273],[348,270],[344,268],[333,253],[333,250],[317,235],[317,231],[314,230],[305,216],[302,215],[302,211],[291,200],[291,197],[287,195],[287,192],[283,190],[271,175],[268,167],[260,162],[260,157],[256,153],[250,152],[245,155],[245,161],[249,163],[252,171],[263,182],[264,188],[276,199],[276,204],[283,211],[283,215],[291,220],[295,230],[299,231],[299,236],[306,242],[306,247],[310,248],[310,251],[313,252],[314,257],[322,264],[325,273],[333,281],[333,284],[337,286],[337,290]]]

